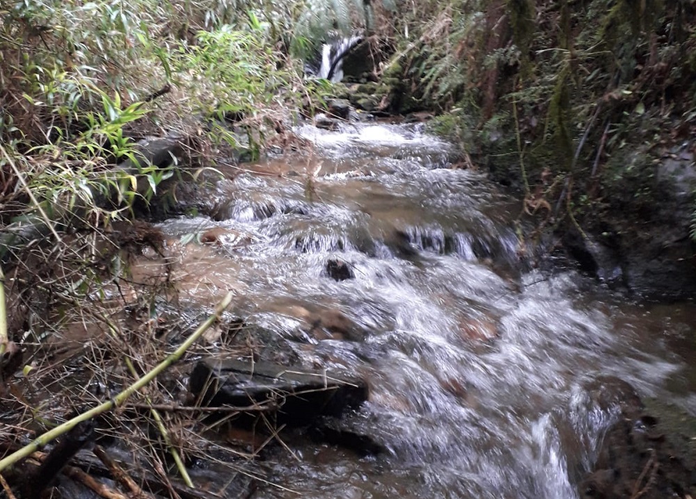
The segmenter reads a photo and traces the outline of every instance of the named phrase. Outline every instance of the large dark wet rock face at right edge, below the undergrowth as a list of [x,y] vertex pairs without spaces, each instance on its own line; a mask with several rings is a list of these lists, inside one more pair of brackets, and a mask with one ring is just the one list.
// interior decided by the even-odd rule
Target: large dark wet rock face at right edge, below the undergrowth
[[622,159],[631,169],[605,188],[606,207],[579,220],[590,238],[575,228],[562,237],[571,258],[608,285],[649,299],[693,297],[693,147],[687,143],[661,159],[636,150]]

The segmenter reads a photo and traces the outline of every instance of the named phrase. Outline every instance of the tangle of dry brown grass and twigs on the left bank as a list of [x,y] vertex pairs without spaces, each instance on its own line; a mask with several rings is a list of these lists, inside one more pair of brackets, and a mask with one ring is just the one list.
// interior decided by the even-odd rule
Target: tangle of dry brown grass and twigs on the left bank
[[[177,283],[170,274],[137,283],[125,268],[113,273],[113,262],[126,264],[141,247],[122,251],[106,235],[95,233],[65,237],[63,243],[68,242],[25,249],[19,258],[24,264],[8,275],[10,306],[22,312],[15,315],[15,321],[19,315],[22,321],[11,326],[11,339],[22,343],[24,363],[32,369],[15,377],[10,394],[3,399],[4,445],[38,436],[111,399],[135,381],[126,359],[142,376],[199,322],[199,317],[171,305],[176,301]],[[239,319],[226,316],[184,361],[97,421],[97,439],[107,446],[107,453],[120,459],[127,456],[128,473],[136,482],[155,480],[164,490],[177,475],[168,445],[148,409],[152,407],[157,408],[168,442],[182,456],[184,466],[204,461],[206,466],[227,469],[227,475],[251,473],[246,463],[273,438],[265,443],[253,435],[241,443],[228,440],[226,420],[239,413],[229,411],[211,422],[209,411],[196,410],[186,383],[191,361],[198,356],[248,355],[248,347],[240,341],[245,328]]]

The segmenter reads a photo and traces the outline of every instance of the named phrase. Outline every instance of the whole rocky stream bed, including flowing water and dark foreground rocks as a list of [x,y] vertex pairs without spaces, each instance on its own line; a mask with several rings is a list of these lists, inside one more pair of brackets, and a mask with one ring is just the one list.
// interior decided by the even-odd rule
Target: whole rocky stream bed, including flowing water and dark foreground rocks
[[189,193],[105,290],[163,344],[234,293],[164,381],[220,408],[184,428],[189,497],[693,497],[696,306],[521,244],[519,201],[421,124],[330,123]]

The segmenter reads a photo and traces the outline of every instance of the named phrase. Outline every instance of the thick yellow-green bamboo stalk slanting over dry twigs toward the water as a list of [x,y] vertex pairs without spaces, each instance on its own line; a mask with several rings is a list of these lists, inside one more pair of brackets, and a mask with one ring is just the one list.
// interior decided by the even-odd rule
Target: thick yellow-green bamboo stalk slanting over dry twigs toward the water
[[138,390],[143,388],[143,386],[150,383],[150,381],[155,379],[159,374],[161,374],[161,372],[164,372],[164,370],[166,370],[169,366],[178,361],[184,354],[184,352],[187,351],[187,349],[189,349],[189,347],[191,347],[191,345],[194,342],[196,342],[198,338],[200,338],[200,335],[203,335],[203,333],[205,333],[205,331],[207,331],[207,329],[210,326],[212,326],[212,324],[214,324],[214,322],[219,318],[223,310],[225,310],[232,301],[232,296],[232,292],[229,292],[227,296],[225,296],[225,298],[223,298],[223,300],[220,303],[218,303],[218,305],[215,307],[214,313],[210,315],[210,317],[205,319],[203,324],[200,324],[200,326],[196,328],[196,331],[193,331],[189,338],[187,338],[187,340],[184,341],[179,348],[177,348],[172,354],[168,355],[164,359],[164,361],[161,361],[161,363],[157,364],[157,366],[155,366],[155,368],[153,368],[150,372],[145,374],[145,376],[143,376],[141,379],[133,383],[125,390],[123,390],[118,395],[116,395],[116,397],[113,397],[113,399],[104,402],[103,404],[100,404],[99,406],[90,409],[89,411],[81,413],[80,415],[77,415],[75,418],[72,418],[71,420],[65,421],[63,424],[58,425],[54,429],[47,431],[45,434],[38,436],[38,438],[35,438],[33,442],[29,443],[28,445],[25,445],[21,449],[17,450],[17,452],[13,452],[13,454],[10,454],[8,457],[1,459],[0,472],[8,466],[16,464],[25,457],[29,457],[29,455],[33,454],[33,452],[36,452],[41,447],[54,440],[54,438],[57,438],[58,436],[64,434],[66,431],[69,431],[78,423],[90,420],[91,418],[94,418],[96,415],[100,415],[107,411],[111,411],[112,409],[115,409],[116,407],[119,407],[122,404],[124,404],[128,397],[130,397]]

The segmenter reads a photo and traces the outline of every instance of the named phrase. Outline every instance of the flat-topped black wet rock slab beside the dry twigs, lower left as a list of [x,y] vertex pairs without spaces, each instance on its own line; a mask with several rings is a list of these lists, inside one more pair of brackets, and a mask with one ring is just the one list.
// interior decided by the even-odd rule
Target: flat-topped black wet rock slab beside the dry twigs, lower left
[[297,426],[310,424],[320,415],[340,417],[368,396],[362,379],[263,361],[206,358],[193,368],[189,383],[201,404],[270,407],[278,422]]

